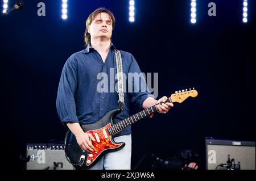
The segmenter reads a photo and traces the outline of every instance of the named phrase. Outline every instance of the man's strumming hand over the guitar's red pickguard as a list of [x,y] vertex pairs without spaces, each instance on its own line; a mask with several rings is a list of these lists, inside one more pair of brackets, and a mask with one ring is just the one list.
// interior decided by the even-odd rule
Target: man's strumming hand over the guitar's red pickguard
[[92,145],[92,141],[90,140],[95,141],[92,134],[81,132],[81,133],[75,134],[75,136],[76,136],[77,144],[79,144],[81,149],[85,150],[88,153],[92,153],[94,146]]

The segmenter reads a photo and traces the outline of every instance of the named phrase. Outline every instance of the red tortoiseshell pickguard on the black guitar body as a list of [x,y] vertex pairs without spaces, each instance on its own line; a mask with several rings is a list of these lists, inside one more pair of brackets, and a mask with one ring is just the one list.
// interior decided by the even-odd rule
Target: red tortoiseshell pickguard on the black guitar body
[[[92,134],[92,136],[95,138],[96,140],[96,136],[95,133],[98,134],[98,138],[100,139],[100,142],[93,141],[92,140],[92,145],[94,146],[94,150],[92,153],[87,153],[87,159],[86,159],[86,166],[91,165],[95,159],[102,153],[102,151],[104,150],[108,150],[108,149],[115,149],[120,147],[122,144],[114,144],[111,139],[110,139],[110,135],[108,133],[108,131],[106,131],[106,134],[108,136],[108,138],[106,138],[104,136],[104,133],[102,132],[103,129],[108,129],[111,126],[111,124],[107,124],[105,127],[100,128],[100,129],[95,129],[95,130],[90,130],[86,133]],[[92,154],[92,157],[89,157],[89,154]],[[90,160],[90,163],[88,163],[87,161]]]

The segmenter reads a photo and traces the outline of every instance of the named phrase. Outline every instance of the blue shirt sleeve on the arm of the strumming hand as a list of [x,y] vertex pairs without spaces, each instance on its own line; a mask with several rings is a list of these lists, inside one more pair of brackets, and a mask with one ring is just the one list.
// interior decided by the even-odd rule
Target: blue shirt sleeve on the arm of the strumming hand
[[56,108],[60,120],[66,123],[79,123],[76,115],[75,94],[77,90],[77,62],[71,56],[65,62],[61,72],[57,91]]

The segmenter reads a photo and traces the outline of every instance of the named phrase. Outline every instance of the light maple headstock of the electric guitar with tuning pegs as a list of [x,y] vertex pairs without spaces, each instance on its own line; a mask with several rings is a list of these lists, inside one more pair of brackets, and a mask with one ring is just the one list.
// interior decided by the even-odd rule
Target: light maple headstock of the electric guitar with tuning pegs
[[189,97],[195,98],[198,95],[198,92],[193,88],[192,90],[185,89],[182,91],[176,91],[175,94],[171,95],[172,102],[182,103]]

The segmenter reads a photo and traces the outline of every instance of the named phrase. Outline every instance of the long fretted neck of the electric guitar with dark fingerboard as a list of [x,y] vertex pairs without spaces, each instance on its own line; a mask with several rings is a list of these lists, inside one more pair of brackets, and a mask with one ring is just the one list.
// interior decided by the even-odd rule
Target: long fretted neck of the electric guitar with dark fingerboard
[[[168,98],[166,102],[160,102],[158,104],[167,103],[167,102],[172,103],[171,97]],[[156,104],[156,105],[158,105],[158,104]],[[112,125],[111,127],[108,128],[109,134],[110,135],[116,134],[116,133],[122,131],[123,129],[125,129],[126,127],[128,127],[129,125],[136,123],[138,120],[141,120],[143,117],[151,115],[151,113],[158,110],[156,108],[156,105],[151,106],[147,109],[144,109],[143,111],[141,111],[133,116],[130,116],[127,119],[120,121],[119,123]]]

